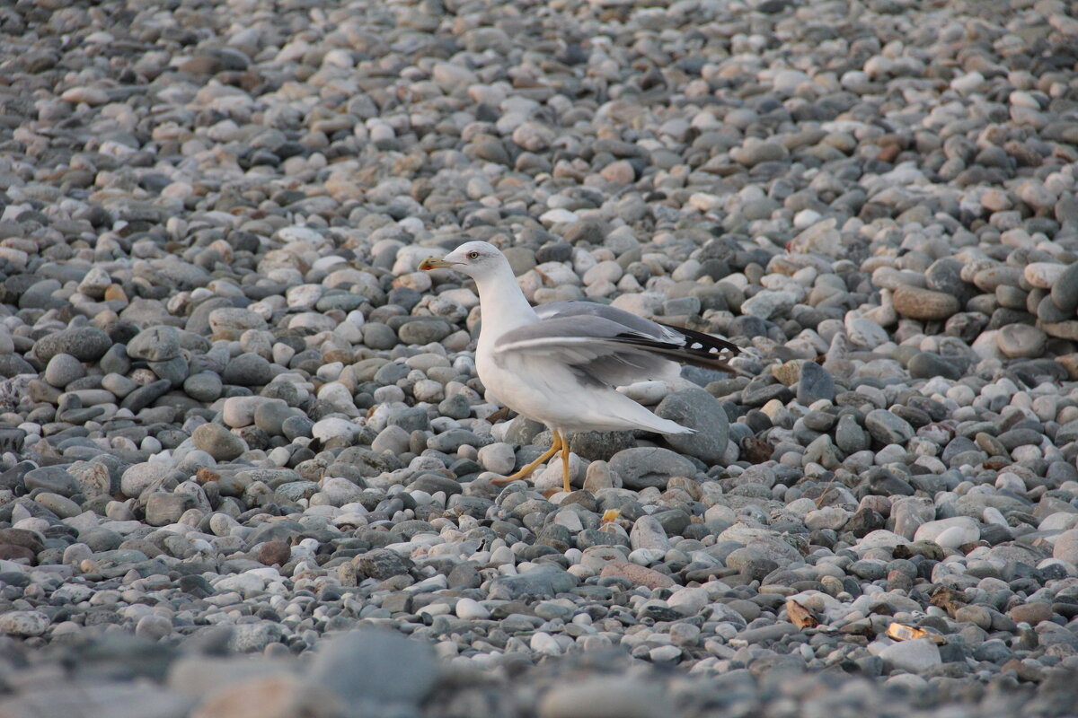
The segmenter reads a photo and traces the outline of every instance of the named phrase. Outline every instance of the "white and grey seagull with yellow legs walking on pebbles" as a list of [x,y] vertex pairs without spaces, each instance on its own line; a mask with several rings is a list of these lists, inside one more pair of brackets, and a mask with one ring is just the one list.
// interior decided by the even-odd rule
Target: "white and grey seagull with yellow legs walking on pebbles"
[[453,269],[475,280],[482,312],[475,368],[487,395],[551,430],[548,451],[493,483],[527,478],[561,451],[569,492],[568,434],[694,432],[657,417],[616,388],[676,379],[679,364],[735,371],[729,361],[741,349],[725,339],[591,301],[533,308],[506,255],[487,242],[466,242],[441,259],[424,259],[419,269]]

